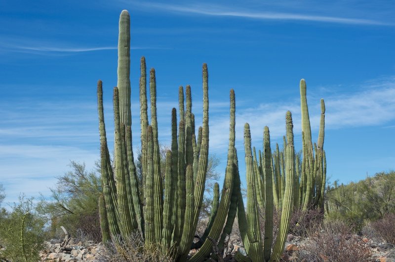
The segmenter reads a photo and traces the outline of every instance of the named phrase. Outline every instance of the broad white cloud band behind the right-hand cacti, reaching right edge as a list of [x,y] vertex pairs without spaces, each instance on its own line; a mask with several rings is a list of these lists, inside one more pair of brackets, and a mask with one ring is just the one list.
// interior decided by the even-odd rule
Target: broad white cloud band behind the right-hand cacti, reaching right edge
[[[347,90],[347,88],[345,88]],[[310,94],[310,95],[309,95]],[[360,84],[356,93],[325,98],[325,129],[342,129],[388,125],[395,120],[395,78],[376,79]],[[308,103],[312,131],[317,132],[320,118],[320,99],[308,90]],[[237,102],[236,102],[237,104]],[[229,105],[228,105],[229,107]],[[262,103],[254,107],[237,109],[236,137],[241,145],[244,123],[250,124],[251,137],[256,145],[261,145],[263,128],[268,126],[272,140],[280,140],[285,134],[285,112],[292,112],[294,134],[301,134],[300,100],[288,102]],[[221,152],[228,143],[224,131],[229,129],[229,113],[217,114],[210,118],[210,148]]]

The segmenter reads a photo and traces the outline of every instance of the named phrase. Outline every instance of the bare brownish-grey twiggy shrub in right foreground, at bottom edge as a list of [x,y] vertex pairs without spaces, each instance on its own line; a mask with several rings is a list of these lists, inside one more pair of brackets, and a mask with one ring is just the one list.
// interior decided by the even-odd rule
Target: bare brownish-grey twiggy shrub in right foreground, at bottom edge
[[370,261],[370,247],[344,222],[326,223],[309,237],[309,243],[299,247],[301,261]]

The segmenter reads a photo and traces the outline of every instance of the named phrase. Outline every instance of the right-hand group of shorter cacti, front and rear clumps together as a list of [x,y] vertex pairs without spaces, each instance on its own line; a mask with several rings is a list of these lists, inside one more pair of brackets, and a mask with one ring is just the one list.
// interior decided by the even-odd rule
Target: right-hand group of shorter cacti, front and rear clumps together
[[[247,257],[237,253],[238,261],[279,261],[289,229],[291,213],[295,209],[320,208],[326,179],[326,159],[323,150],[325,104],[321,99],[321,119],[317,145],[311,142],[311,127],[306,99],[306,82],[300,82],[302,110],[303,158],[295,154],[291,112],[286,112],[286,136],[282,151],[270,148],[269,128],[263,131],[263,154],[255,147],[251,150],[249,125],[244,126],[244,150],[247,181],[247,212],[241,193],[238,201],[238,224]],[[314,154],[315,153],[315,154]],[[301,162],[301,163],[300,163]],[[273,244],[274,209],[280,216],[276,243]],[[265,235],[259,227],[259,210],[265,210]],[[262,241],[264,239],[264,241]]]

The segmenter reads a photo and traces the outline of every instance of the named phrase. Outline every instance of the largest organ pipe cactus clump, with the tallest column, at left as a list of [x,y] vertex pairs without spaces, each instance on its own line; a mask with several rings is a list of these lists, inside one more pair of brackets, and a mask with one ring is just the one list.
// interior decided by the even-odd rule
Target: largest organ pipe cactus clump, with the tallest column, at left
[[[140,127],[142,188],[136,175],[131,141],[130,111],[130,16],[122,11],[119,19],[118,87],[114,88],[115,160],[111,165],[107,146],[103,112],[102,82],[98,82],[98,112],[101,141],[101,165],[103,197],[101,197],[101,220],[103,229],[108,229],[111,238],[118,241],[132,232],[140,232],[145,244],[162,244],[166,249],[174,247],[173,258],[184,261],[191,248],[197,219],[201,208],[208,162],[208,73],[203,64],[203,123],[195,135],[195,116],[192,113],[191,87],[179,89],[180,122],[177,128],[177,112],[171,111],[171,151],[166,153],[164,186],[160,176],[158,122],[156,107],[155,69],[150,71],[150,111],[148,121],[147,74],[145,58],[140,69]],[[231,92],[231,128],[229,163],[225,175],[221,201],[217,197],[207,236],[218,239],[230,232],[236,214],[237,197],[233,192],[236,154],[235,149],[235,95]],[[178,135],[177,135],[178,129]],[[164,194],[163,194],[164,188]],[[216,192],[218,193],[218,186]],[[105,204],[104,204],[105,203]],[[105,209],[103,207],[105,206]],[[230,206],[232,207],[230,209]],[[227,220],[226,220],[227,219]],[[107,226],[108,225],[108,226]],[[221,236],[222,237],[222,236]],[[108,239],[108,235],[105,236]],[[211,244],[204,241],[193,258],[200,261],[210,255]],[[164,250],[167,252],[167,250]]]

